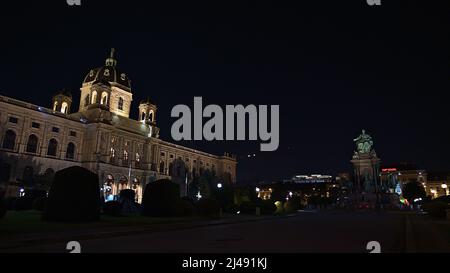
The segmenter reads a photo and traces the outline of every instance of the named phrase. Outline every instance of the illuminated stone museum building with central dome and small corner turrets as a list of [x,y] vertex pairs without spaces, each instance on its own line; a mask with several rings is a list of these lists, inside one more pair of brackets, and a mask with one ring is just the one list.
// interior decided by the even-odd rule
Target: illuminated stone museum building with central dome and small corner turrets
[[149,99],[139,103],[139,120],[129,118],[130,79],[117,69],[114,51],[88,72],[80,90],[76,113],[66,92],[53,97],[52,109],[0,96],[0,182],[82,166],[99,175],[105,196],[133,188],[139,200],[146,183],[175,177],[184,183],[206,169],[235,182],[235,157],[159,139],[157,107]]

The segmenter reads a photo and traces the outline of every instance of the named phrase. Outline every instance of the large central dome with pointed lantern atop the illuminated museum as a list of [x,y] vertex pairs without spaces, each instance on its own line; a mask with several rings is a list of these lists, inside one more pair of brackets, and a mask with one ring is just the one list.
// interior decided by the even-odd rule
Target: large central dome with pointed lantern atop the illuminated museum
[[83,84],[85,83],[109,83],[131,91],[130,79],[125,73],[117,69],[117,60],[114,59],[114,48],[111,49],[111,54],[106,59],[103,67],[94,68],[88,72],[83,81]]

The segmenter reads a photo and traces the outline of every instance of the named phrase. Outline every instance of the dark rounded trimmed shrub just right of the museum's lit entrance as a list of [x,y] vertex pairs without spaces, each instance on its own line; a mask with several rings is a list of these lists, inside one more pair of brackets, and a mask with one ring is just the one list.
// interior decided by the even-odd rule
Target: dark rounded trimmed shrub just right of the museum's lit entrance
[[142,199],[142,215],[170,217],[177,213],[176,206],[180,200],[180,187],[167,179],[147,184]]

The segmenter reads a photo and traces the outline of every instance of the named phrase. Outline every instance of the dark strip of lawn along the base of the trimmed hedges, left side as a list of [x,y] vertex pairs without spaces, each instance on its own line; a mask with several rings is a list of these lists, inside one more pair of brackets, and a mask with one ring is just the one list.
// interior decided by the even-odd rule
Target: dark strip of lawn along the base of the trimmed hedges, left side
[[97,229],[105,227],[145,226],[176,222],[198,221],[199,217],[142,217],[123,216],[112,217],[102,215],[100,221],[91,223],[52,223],[41,220],[39,211],[8,211],[5,218],[0,220],[0,238],[16,234],[29,234],[40,232],[75,231]]

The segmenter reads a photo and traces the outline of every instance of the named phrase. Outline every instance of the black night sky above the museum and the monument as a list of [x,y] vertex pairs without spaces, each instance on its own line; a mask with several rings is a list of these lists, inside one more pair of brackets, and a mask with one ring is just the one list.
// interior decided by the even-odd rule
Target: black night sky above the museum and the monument
[[349,171],[363,128],[385,164],[450,169],[448,1],[81,1],[2,3],[0,94],[49,107],[66,88],[76,111],[83,78],[115,47],[132,117],[150,96],[165,140],[172,107],[194,96],[280,105],[276,152],[187,143],[238,154],[240,180]]

